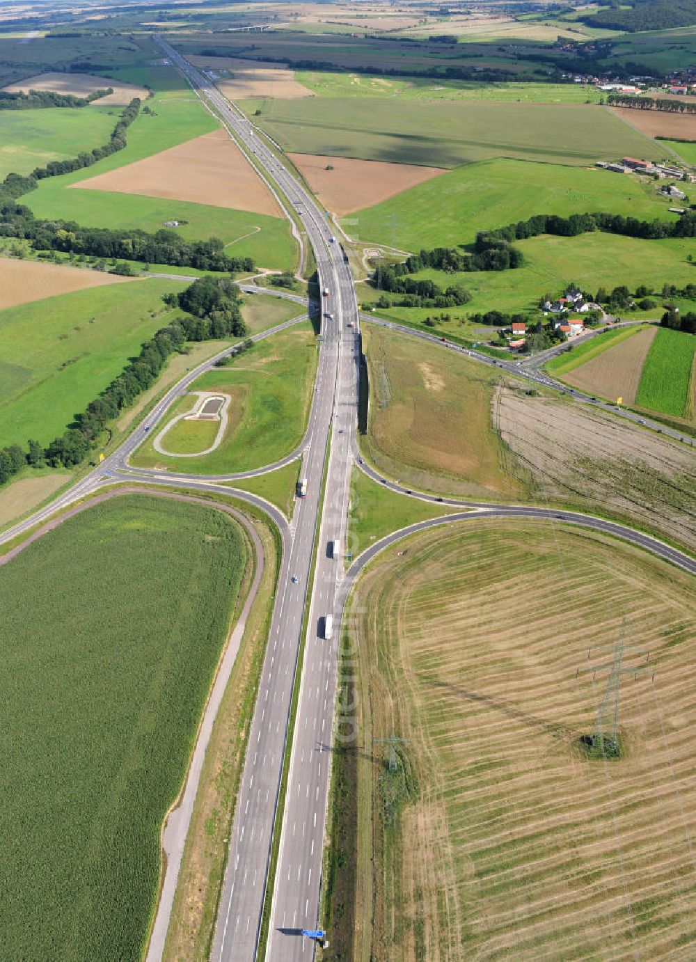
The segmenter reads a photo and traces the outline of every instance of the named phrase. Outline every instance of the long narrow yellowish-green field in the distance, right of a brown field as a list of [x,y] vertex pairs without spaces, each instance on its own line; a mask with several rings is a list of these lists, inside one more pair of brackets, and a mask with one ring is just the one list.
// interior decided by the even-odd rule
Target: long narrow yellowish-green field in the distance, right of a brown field
[[599,103],[596,87],[584,84],[496,84],[433,77],[381,77],[362,73],[298,71],[298,81],[320,97],[388,97],[390,100],[473,100],[515,103]]

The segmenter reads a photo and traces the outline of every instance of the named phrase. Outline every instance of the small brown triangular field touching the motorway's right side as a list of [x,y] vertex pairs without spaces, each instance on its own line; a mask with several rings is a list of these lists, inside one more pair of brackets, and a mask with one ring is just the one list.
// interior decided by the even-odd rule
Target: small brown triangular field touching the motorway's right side
[[[447,172],[440,167],[385,164],[382,161],[358,161],[350,157],[317,157],[314,154],[288,156],[324,207],[341,216],[380,204],[387,197]],[[327,170],[327,165],[334,169]]]

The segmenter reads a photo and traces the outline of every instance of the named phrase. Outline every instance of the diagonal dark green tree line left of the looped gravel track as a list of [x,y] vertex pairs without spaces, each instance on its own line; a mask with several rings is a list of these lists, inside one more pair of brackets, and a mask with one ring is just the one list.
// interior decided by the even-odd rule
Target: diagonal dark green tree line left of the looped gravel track
[[0,485],[26,465],[73,468],[85,461],[108,423],[128,408],[138,394],[152,387],[167,358],[183,352],[186,341],[243,338],[248,333],[239,307],[239,291],[229,278],[201,277],[185,291],[165,294],[163,299],[170,307],[186,311],[187,316],[160,328],[144,342],[137,358],[50,444],[44,447],[30,440],[26,451],[19,444],[1,448]]

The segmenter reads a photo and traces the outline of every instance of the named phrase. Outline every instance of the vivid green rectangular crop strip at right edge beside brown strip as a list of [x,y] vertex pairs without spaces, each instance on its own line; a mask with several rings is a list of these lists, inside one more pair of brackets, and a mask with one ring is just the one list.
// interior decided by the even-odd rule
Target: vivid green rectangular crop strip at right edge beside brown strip
[[696,338],[660,327],[645,359],[635,403],[678,418],[692,417]]

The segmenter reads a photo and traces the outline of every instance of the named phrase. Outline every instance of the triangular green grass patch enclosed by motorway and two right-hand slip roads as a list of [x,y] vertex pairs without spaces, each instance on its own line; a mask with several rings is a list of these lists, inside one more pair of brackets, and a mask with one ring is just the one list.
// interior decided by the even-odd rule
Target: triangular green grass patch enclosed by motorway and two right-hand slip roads
[[351,558],[357,558],[360,551],[392,531],[415,521],[438,518],[452,510],[416,500],[407,494],[396,494],[354,468],[345,545],[346,567],[350,566]]

